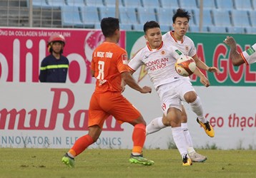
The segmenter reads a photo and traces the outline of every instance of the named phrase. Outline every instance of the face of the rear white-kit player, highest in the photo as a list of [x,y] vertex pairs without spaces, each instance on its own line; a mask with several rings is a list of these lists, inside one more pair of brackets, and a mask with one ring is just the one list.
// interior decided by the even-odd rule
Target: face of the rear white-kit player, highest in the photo
[[189,21],[186,17],[177,17],[172,26],[175,33],[177,33],[179,36],[184,36],[189,28]]

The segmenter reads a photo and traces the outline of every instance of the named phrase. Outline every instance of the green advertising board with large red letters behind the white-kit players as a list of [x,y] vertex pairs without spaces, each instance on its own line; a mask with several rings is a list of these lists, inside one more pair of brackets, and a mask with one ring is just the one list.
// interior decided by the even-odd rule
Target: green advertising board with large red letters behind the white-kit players
[[[207,66],[219,68],[220,74],[209,73],[202,70],[211,85],[221,86],[256,86],[256,63],[250,66],[245,64],[239,67],[232,66],[230,60],[230,48],[223,43],[226,36],[230,35],[237,41],[237,50],[245,51],[256,41],[256,35],[228,34],[228,33],[187,33],[192,38],[197,48],[197,56]],[[145,46],[144,33],[142,31],[127,31],[127,53],[129,58]],[[200,78],[191,76],[193,85],[202,85]]]

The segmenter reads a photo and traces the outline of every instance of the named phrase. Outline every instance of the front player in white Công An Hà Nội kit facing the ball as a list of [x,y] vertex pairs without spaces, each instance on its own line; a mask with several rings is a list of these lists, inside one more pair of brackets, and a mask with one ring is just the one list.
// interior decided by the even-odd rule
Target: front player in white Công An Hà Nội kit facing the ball
[[[172,126],[172,136],[180,155],[182,155],[182,164],[191,165],[192,161],[187,154],[186,139],[181,128],[181,100],[192,103],[192,110],[197,115],[202,115],[200,98],[195,93],[190,81],[175,71],[174,63],[177,58],[184,56],[184,54],[178,48],[168,46],[162,41],[159,24],[156,21],[147,21],[144,24],[144,34],[147,46],[129,61],[128,66],[131,73],[134,73],[142,65],[146,66],[147,74],[161,100],[162,111],[169,121],[169,125]],[[206,119],[204,118],[204,120]],[[204,120],[201,119],[201,122]],[[214,135],[212,126],[210,124],[209,126]]]

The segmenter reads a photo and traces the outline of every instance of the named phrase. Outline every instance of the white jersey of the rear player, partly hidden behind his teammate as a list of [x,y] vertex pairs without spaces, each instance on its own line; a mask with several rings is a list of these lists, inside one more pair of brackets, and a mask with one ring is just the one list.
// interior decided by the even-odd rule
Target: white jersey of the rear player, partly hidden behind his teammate
[[195,44],[191,38],[188,36],[183,36],[182,41],[177,41],[173,35],[174,31],[168,31],[162,36],[162,41],[167,44],[167,46],[175,46],[178,48],[184,55],[194,57],[197,54]]

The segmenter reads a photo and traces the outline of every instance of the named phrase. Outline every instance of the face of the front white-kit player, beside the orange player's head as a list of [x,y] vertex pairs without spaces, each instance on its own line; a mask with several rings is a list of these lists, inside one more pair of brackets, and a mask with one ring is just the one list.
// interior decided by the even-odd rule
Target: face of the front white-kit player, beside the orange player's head
[[150,48],[159,48],[162,43],[162,33],[160,28],[149,28],[146,31],[145,38],[149,42]]

